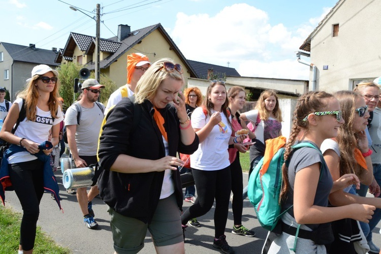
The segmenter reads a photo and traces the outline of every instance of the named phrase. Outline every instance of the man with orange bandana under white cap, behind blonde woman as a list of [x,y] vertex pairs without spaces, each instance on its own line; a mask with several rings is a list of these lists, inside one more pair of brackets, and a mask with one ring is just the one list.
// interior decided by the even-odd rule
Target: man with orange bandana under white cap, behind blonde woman
[[135,87],[140,77],[145,73],[148,67],[151,66],[147,56],[141,53],[132,53],[127,56],[127,84],[119,87],[114,91],[106,106],[105,115],[110,108],[116,105],[123,97],[133,96]]

